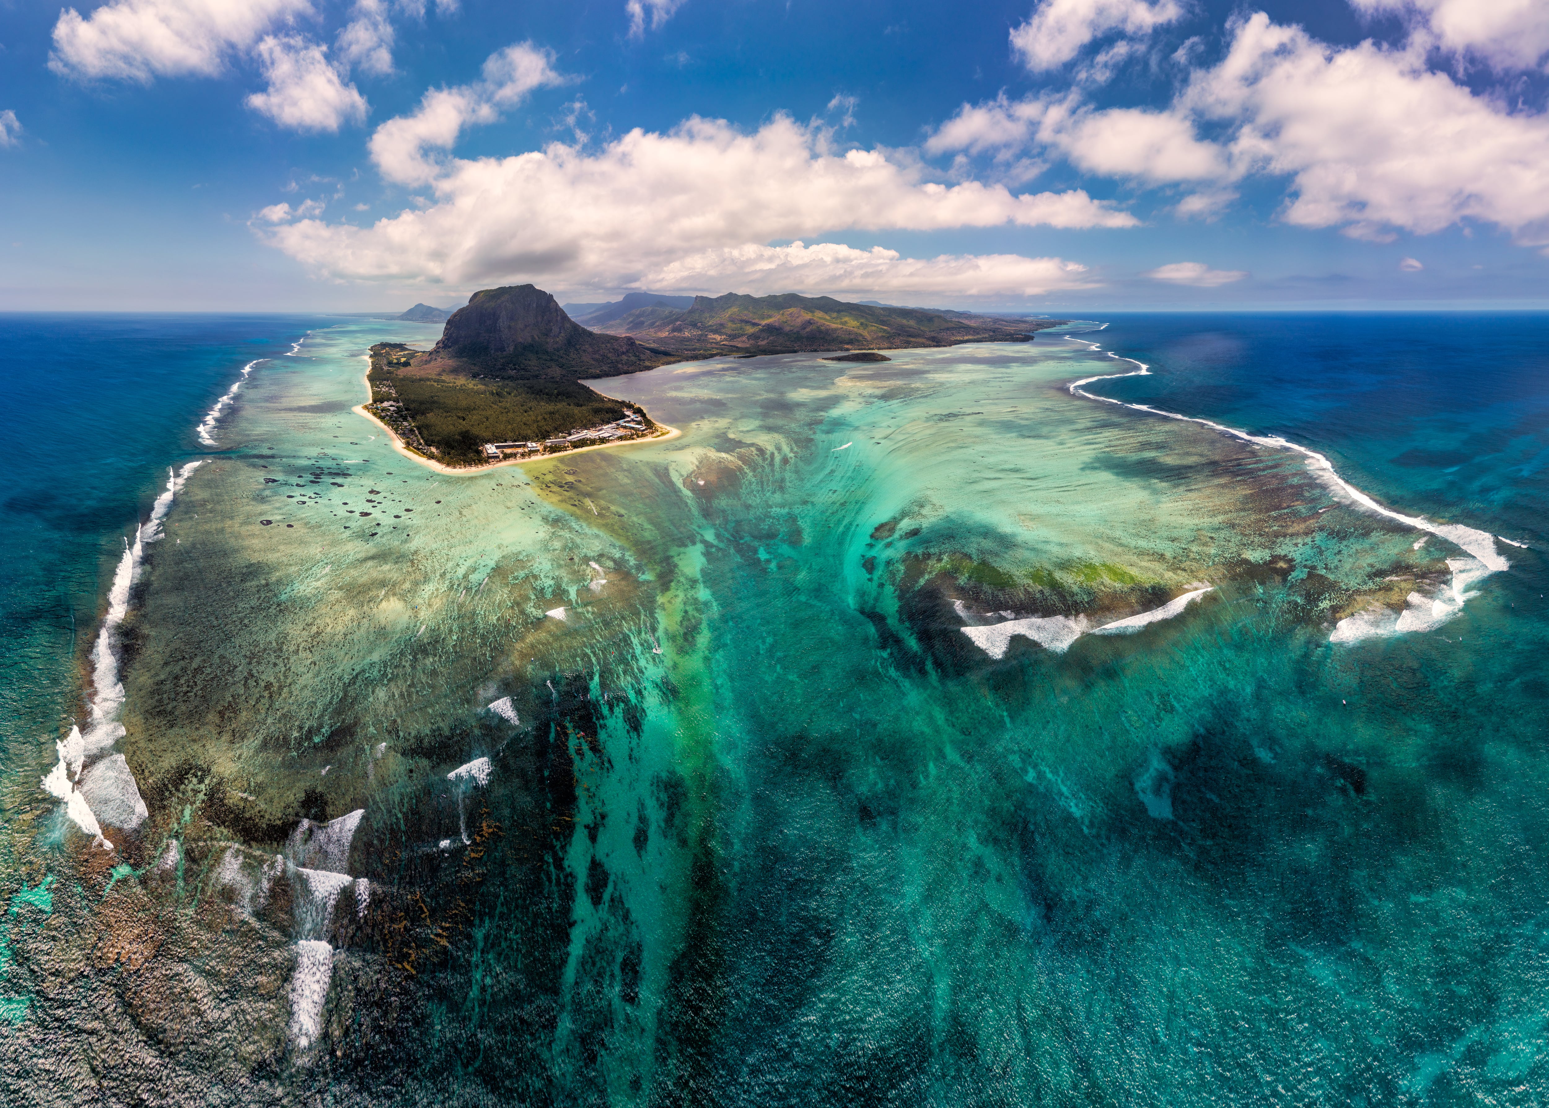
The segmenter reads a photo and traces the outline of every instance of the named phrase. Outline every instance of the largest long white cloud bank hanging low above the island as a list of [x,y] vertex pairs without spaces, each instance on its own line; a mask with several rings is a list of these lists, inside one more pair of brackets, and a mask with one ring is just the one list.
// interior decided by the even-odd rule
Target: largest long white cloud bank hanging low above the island
[[[716,287],[734,262],[757,262],[776,280],[835,287],[819,270],[867,273],[871,288],[934,280],[956,265],[929,265],[847,246],[771,248],[770,242],[810,240],[838,231],[967,226],[1125,228],[1137,220],[1083,191],[1016,195],[1001,184],[942,184],[906,158],[881,150],[835,153],[821,129],[776,116],[756,132],[725,121],[692,118],[671,132],[632,130],[595,152],[555,143],[507,158],[451,160],[443,166],[393,161],[432,139],[449,144],[466,118],[466,104],[437,108],[440,90],[426,98],[418,132],[393,143],[373,139],[384,174],[429,174],[435,201],[366,228],[322,220],[285,223],[268,232],[285,253],[314,271],[355,280],[418,280],[448,285],[511,280],[565,288]],[[393,121],[404,122],[404,121]],[[387,124],[378,138],[387,132]],[[401,141],[400,141],[401,139]],[[390,155],[390,157],[389,157]],[[421,160],[423,161],[423,160]],[[767,253],[770,249],[785,253]],[[742,254],[726,251],[744,251]],[[985,260],[974,287],[1036,288],[1075,280],[1077,270],[1047,259]],[[678,268],[669,268],[669,267]],[[1064,265],[1064,263],[1058,263]],[[1016,268],[1022,267],[1022,268]],[[1029,268],[1030,267],[1030,268]],[[1015,276],[1007,276],[1013,273]],[[691,279],[692,273],[702,274]],[[892,274],[892,276],[889,276]],[[898,276],[905,274],[905,276]],[[1061,276],[1064,274],[1064,276]],[[838,277],[836,277],[838,279]],[[858,277],[844,276],[843,282]],[[779,284],[776,280],[776,284]],[[1052,287],[1052,285],[1050,285]]]

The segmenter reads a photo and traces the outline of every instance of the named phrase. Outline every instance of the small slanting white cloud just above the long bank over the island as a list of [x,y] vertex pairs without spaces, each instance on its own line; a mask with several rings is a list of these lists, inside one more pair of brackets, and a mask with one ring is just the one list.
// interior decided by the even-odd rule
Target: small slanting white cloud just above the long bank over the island
[[449,150],[463,127],[494,122],[499,108],[517,104],[534,88],[565,84],[553,68],[553,54],[519,42],[491,54],[483,81],[455,88],[432,88],[414,115],[389,119],[372,135],[372,161],[398,184],[428,184],[440,166],[428,149]]

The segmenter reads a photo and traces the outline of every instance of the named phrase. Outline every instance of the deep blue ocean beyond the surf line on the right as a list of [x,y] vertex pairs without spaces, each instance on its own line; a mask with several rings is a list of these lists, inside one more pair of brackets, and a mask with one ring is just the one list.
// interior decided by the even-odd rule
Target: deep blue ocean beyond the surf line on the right
[[1111,319],[1094,338],[1152,375],[1106,395],[1284,435],[1393,504],[1549,532],[1543,313]]

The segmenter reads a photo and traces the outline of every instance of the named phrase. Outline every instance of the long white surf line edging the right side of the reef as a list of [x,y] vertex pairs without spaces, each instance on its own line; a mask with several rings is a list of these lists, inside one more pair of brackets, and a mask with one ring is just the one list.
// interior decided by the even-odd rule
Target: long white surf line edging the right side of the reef
[[[1075,341],[1083,341],[1083,339],[1075,339]],[[1092,350],[1101,350],[1103,349],[1097,342],[1087,342],[1087,346]],[[1179,412],[1168,412],[1168,411],[1160,409],[1160,408],[1152,408],[1151,404],[1129,404],[1129,403],[1125,403],[1123,400],[1114,400],[1111,397],[1098,397],[1094,392],[1087,392],[1081,386],[1083,384],[1090,384],[1092,381],[1109,381],[1109,380],[1115,380],[1115,378],[1121,378],[1121,377],[1149,377],[1151,375],[1149,366],[1146,366],[1142,361],[1135,361],[1134,358],[1123,358],[1123,356],[1114,353],[1112,350],[1109,350],[1106,353],[1108,353],[1109,358],[1114,358],[1117,361],[1128,361],[1132,366],[1139,366],[1139,369],[1132,369],[1128,373],[1098,373],[1095,377],[1081,378],[1080,381],[1072,381],[1070,386],[1069,386],[1072,395],[1084,397],[1086,400],[1101,400],[1103,403],[1108,403],[1108,404],[1118,404],[1120,408],[1131,408],[1131,409],[1134,409],[1137,412],[1148,412],[1151,415],[1163,415],[1163,417],[1166,417],[1169,420],[1183,420],[1185,423],[1199,423],[1200,426],[1210,428],[1211,431],[1219,431],[1221,434],[1231,435],[1233,439],[1239,439],[1239,440],[1247,442],[1247,443],[1253,443],[1255,446],[1273,446],[1276,449],[1293,451],[1293,452],[1301,454],[1303,457],[1307,459],[1307,470],[1312,473],[1312,476],[1317,480],[1320,480],[1326,488],[1332,490],[1335,494],[1343,494],[1345,497],[1348,497],[1352,504],[1355,504],[1355,507],[1365,508],[1366,511],[1371,511],[1372,514],[1385,516],[1386,519],[1393,519],[1396,522],[1400,522],[1405,527],[1413,527],[1416,530],[1428,532],[1431,535],[1436,535],[1437,538],[1447,539],[1453,545],[1456,545],[1461,550],[1467,552],[1470,555],[1468,559],[1450,558],[1447,561],[1448,569],[1451,569],[1451,572],[1453,572],[1451,592],[1453,592],[1453,598],[1455,598],[1455,603],[1456,603],[1456,606],[1448,606],[1451,612],[1461,611],[1462,609],[1462,601],[1468,600],[1472,595],[1475,595],[1475,594],[1465,592],[1465,589],[1467,589],[1468,584],[1472,584],[1473,581],[1478,581],[1482,576],[1489,576],[1490,573],[1499,573],[1501,570],[1510,567],[1510,563],[1501,555],[1501,552],[1495,545],[1495,539],[1496,539],[1495,535],[1490,535],[1489,532],[1481,532],[1481,530],[1473,528],[1473,527],[1464,527],[1462,524],[1433,524],[1430,519],[1425,519],[1424,516],[1406,516],[1402,511],[1394,511],[1393,508],[1386,508],[1386,507],[1377,504],[1377,501],[1374,501],[1371,496],[1368,496],[1362,490],[1355,488],[1355,485],[1352,485],[1348,480],[1345,480],[1334,470],[1334,463],[1329,462],[1327,456],[1320,454],[1315,449],[1309,449],[1306,446],[1301,446],[1300,443],[1293,443],[1289,439],[1281,439],[1279,435],[1255,435],[1255,434],[1248,434],[1247,431],[1239,431],[1236,428],[1228,428],[1224,423],[1216,423],[1214,420],[1202,420],[1202,418],[1197,418],[1194,415],[1182,415]],[[1504,539],[1504,538],[1501,541],[1503,542],[1510,542],[1512,545],[1521,545],[1518,542],[1512,542],[1510,539]],[[1430,598],[1419,597],[1419,594],[1411,594],[1411,597],[1410,597],[1411,607],[1417,603],[1417,600],[1419,601],[1430,601]],[[1351,625],[1354,620],[1357,620],[1357,617],[1349,617],[1348,620],[1340,620],[1338,628],[1335,628],[1332,642],[1352,642],[1354,640],[1352,638],[1352,632],[1351,632],[1349,628],[1346,628],[1346,625]],[[1414,620],[1410,620],[1406,623],[1400,620],[1400,621],[1396,621],[1394,631],[1410,631],[1410,629],[1430,631],[1433,626],[1439,626],[1439,620],[1436,623],[1430,623],[1428,626],[1420,626]],[[1343,632],[1343,637],[1341,637],[1341,632]],[[1379,634],[1386,634],[1386,632],[1383,631],[1383,632],[1379,632]]]

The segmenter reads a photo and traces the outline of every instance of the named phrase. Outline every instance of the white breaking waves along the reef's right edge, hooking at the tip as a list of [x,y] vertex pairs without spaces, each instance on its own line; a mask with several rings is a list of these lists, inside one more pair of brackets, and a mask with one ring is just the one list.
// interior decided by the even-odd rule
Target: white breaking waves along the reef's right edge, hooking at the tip
[[[1070,342],[1084,342],[1089,350],[1101,350],[1103,347],[1090,339],[1081,339],[1073,336],[1066,336]],[[1447,567],[1451,570],[1451,584],[1447,590],[1427,597],[1419,592],[1411,592],[1408,595],[1403,612],[1391,612],[1389,609],[1374,607],[1365,612],[1357,612],[1345,620],[1340,620],[1329,635],[1329,642],[1349,643],[1358,642],[1362,638],[1372,638],[1377,635],[1393,635],[1403,634],[1406,631],[1431,631],[1439,628],[1444,621],[1450,620],[1453,615],[1462,611],[1464,601],[1476,597],[1476,592],[1470,592],[1468,586],[1489,576],[1490,573],[1499,573],[1510,567],[1510,563],[1501,555],[1499,549],[1495,545],[1496,536],[1489,532],[1481,532],[1473,527],[1464,527],[1462,524],[1433,524],[1424,516],[1410,516],[1402,511],[1394,511],[1393,508],[1383,507],[1371,496],[1355,488],[1355,485],[1345,480],[1335,470],[1334,463],[1329,462],[1327,456],[1320,454],[1315,449],[1309,449],[1300,443],[1293,443],[1289,439],[1279,435],[1255,435],[1247,431],[1239,431],[1238,428],[1228,428],[1224,423],[1216,423],[1214,420],[1204,420],[1196,415],[1183,415],[1180,412],[1169,412],[1162,408],[1152,408],[1151,404],[1131,404],[1123,400],[1114,400],[1112,397],[1100,397],[1095,392],[1087,392],[1083,386],[1092,384],[1094,381],[1112,381],[1123,377],[1149,377],[1151,367],[1134,358],[1123,358],[1112,350],[1106,350],[1109,358],[1117,361],[1128,361],[1135,366],[1135,369],[1125,373],[1097,373],[1094,377],[1083,377],[1080,381],[1072,381],[1069,389],[1075,397],[1083,397],[1086,400],[1100,400],[1104,404],[1117,404],[1120,408],[1129,408],[1137,412],[1146,412],[1149,415],[1162,415],[1169,420],[1183,420],[1185,423],[1199,423],[1200,426],[1218,431],[1224,435],[1230,435],[1245,443],[1255,446],[1269,446],[1272,449],[1287,449],[1295,454],[1301,454],[1307,459],[1307,470],[1317,480],[1334,493],[1340,501],[1351,504],[1362,511],[1369,511],[1376,516],[1383,516],[1385,519],[1393,519],[1394,522],[1403,524],[1405,527],[1413,527],[1420,532],[1428,532],[1441,539],[1451,542],[1455,547],[1464,550],[1467,558],[1448,558]],[[1512,542],[1510,539],[1501,539],[1510,545],[1523,545],[1520,542]],[[1391,618],[1389,618],[1391,615]]]

